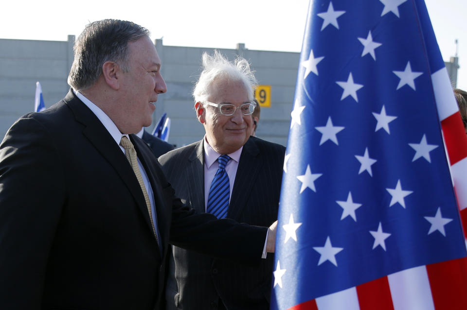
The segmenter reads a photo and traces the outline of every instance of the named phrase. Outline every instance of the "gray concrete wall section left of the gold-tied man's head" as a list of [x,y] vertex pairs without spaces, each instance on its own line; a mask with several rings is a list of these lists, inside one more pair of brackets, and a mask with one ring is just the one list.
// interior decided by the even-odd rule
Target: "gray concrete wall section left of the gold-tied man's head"
[[68,41],[0,39],[0,137],[21,115],[34,109],[36,81],[46,106],[69,89],[74,35]]

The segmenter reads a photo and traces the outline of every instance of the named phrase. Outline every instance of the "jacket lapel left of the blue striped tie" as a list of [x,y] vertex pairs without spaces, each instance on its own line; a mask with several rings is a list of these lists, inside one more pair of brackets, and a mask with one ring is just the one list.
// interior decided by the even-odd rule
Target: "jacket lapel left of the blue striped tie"
[[188,156],[187,163],[187,180],[193,180],[193,182],[187,182],[188,185],[188,197],[197,213],[204,213],[205,202],[204,202],[204,146],[203,140],[199,141],[193,152]]

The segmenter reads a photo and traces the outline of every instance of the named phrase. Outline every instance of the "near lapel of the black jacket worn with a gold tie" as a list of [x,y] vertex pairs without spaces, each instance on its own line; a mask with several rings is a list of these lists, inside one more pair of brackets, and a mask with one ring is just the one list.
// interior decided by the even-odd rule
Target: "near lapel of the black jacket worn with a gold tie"
[[120,146],[115,143],[115,140],[101,121],[99,121],[94,113],[74,95],[71,89],[64,101],[72,109],[76,121],[84,125],[83,135],[88,138],[99,153],[107,159],[109,164],[115,169],[115,172],[117,172],[125,183],[139,209],[143,212],[144,219],[148,224],[148,229],[151,229],[152,232],[143,192],[136,179],[135,172],[133,172]]

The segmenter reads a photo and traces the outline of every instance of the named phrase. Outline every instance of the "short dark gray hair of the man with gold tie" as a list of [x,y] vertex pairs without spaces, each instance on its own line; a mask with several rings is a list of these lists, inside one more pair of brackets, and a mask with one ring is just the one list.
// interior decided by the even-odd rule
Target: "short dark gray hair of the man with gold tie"
[[91,22],[74,43],[68,84],[76,90],[94,85],[107,61],[116,62],[127,72],[128,42],[145,35],[149,35],[146,28],[130,21],[103,19]]

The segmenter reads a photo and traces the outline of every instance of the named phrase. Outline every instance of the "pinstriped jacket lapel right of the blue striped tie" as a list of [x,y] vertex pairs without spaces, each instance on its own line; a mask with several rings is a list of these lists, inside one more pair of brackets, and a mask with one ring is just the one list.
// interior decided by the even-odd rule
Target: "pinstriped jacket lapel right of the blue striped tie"
[[252,138],[243,146],[235,175],[234,188],[230,199],[227,217],[237,220],[247,204],[254,189],[256,177],[261,170],[263,161],[260,159],[259,149]]

